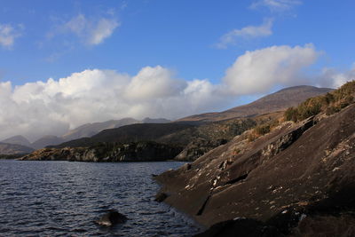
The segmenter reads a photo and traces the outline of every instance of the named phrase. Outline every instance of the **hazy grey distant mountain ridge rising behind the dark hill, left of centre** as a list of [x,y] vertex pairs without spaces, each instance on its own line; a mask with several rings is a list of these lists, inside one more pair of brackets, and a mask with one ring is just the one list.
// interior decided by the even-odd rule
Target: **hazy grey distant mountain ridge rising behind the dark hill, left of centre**
[[123,118],[120,120],[110,120],[106,122],[86,123],[74,130],[69,130],[67,134],[62,136],[64,140],[73,140],[77,138],[91,137],[101,130],[119,128],[132,123],[140,123],[133,118]]

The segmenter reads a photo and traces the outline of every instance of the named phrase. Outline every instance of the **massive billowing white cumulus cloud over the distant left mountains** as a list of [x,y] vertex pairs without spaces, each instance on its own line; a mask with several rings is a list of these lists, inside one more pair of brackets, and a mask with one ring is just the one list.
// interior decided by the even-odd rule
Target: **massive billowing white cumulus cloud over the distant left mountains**
[[0,83],[0,137],[36,139],[62,135],[85,122],[191,115],[225,101],[213,90],[206,80],[186,82],[161,66],[144,67],[133,76],[92,69],[15,87]]

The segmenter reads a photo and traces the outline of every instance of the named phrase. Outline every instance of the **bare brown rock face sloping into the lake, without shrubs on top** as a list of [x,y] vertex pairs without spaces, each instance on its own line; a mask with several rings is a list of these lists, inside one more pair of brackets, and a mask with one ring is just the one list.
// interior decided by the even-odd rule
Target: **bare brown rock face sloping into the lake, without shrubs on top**
[[[157,180],[165,201],[202,225],[248,217],[310,233],[329,221],[324,215],[355,208],[355,105],[320,121],[284,122],[253,142],[245,132]],[[312,224],[298,226],[306,219]]]

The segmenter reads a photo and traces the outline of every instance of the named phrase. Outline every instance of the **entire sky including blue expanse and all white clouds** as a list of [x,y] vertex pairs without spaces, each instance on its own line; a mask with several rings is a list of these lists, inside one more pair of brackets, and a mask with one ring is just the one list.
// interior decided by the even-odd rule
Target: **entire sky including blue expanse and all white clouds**
[[0,139],[355,78],[352,0],[1,0]]

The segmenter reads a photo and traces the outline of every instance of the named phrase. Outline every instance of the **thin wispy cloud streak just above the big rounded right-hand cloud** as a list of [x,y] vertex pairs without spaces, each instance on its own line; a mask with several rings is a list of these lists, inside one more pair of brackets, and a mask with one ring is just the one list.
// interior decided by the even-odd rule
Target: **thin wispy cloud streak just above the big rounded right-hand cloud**
[[229,44],[237,43],[238,39],[272,36],[272,23],[272,19],[265,19],[260,26],[233,29],[220,38],[219,43],[217,43],[217,48],[225,49]]

